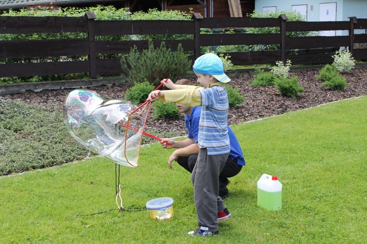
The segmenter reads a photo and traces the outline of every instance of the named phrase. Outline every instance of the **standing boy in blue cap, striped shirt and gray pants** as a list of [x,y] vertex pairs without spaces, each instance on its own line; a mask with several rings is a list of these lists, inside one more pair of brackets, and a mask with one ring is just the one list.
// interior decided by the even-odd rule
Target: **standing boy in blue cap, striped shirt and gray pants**
[[163,103],[177,102],[187,106],[201,106],[197,163],[191,174],[198,229],[188,234],[207,236],[218,234],[218,213],[229,214],[219,193],[219,174],[229,156],[230,143],[227,130],[228,96],[225,83],[230,81],[224,73],[222,60],[213,53],[200,56],[193,71],[202,87],[175,85],[170,79],[161,83],[171,90],[155,90],[148,99],[162,99]]

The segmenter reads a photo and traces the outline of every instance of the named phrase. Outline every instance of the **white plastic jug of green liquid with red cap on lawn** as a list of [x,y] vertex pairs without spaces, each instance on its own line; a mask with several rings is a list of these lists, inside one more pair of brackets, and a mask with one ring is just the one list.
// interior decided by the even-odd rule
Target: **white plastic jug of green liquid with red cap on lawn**
[[282,184],[278,177],[264,174],[257,181],[257,205],[278,210],[282,207]]

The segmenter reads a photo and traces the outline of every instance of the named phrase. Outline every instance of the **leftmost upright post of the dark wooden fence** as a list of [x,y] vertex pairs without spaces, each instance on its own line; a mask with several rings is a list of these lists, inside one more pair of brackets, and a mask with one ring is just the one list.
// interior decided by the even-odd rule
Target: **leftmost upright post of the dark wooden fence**
[[95,53],[95,28],[94,20],[97,18],[93,12],[86,12],[85,17],[88,20],[88,39],[89,39],[89,77],[97,79],[97,56]]

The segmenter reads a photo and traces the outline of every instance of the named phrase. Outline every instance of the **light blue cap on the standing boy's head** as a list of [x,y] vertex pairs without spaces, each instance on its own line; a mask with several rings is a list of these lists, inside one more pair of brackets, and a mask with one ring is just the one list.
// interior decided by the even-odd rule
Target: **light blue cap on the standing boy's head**
[[229,77],[224,73],[222,60],[214,53],[206,53],[195,60],[192,70],[200,74],[212,75],[222,83],[228,83]]

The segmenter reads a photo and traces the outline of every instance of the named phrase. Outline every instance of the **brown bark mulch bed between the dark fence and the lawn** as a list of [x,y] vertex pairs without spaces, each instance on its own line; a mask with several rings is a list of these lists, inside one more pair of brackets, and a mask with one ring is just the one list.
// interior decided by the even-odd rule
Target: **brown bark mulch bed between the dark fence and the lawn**
[[[331,91],[320,88],[323,81],[317,80],[318,74],[318,70],[303,70],[291,73],[291,76],[298,76],[299,85],[305,90],[296,99],[282,96],[274,87],[250,86],[249,83],[253,79],[251,74],[231,77],[232,81],[230,84],[239,89],[245,98],[245,102],[240,104],[238,108],[229,110],[228,124],[238,124],[367,94],[367,67],[356,67],[352,69],[351,73],[343,74],[348,84],[344,91]],[[126,89],[130,87],[131,85],[129,84],[120,84],[98,86],[89,89],[96,91],[106,99],[121,99],[124,97]],[[2,97],[22,99],[26,103],[40,104],[62,110],[64,99],[70,91],[71,89],[43,90],[41,92],[3,95]],[[159,132],[170,131],[176,135],[186,134],[183,118],[152,120],[151,116],[152,112],[145,130],[154,128]]]

